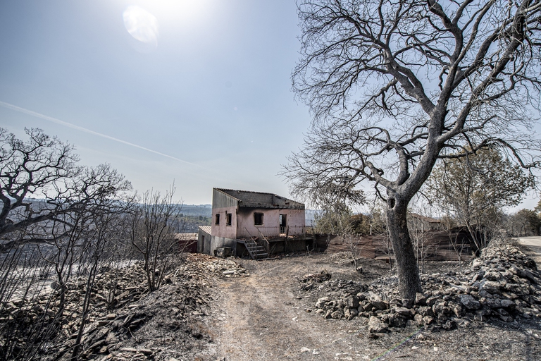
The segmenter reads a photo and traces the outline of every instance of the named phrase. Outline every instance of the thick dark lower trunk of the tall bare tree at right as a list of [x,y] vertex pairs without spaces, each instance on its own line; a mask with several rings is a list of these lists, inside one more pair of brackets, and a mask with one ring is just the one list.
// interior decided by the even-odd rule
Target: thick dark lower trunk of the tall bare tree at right
[[414,300],[415,294],[422,289],[408,231],[407,209],[408,202],[399,200],[398,197],[389,197],[387,200],[387,228],[397,262],[399,293],[402,298]]

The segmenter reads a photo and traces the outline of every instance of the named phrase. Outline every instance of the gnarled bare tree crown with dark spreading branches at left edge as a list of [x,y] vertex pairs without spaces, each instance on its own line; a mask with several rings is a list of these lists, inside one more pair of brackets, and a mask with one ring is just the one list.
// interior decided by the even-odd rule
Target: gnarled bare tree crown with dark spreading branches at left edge
[[130,182],[108,164],[80,166],[72,145],[41,129],[26,133],[28,139],[20,140],[0,128],[0,238],[8,240],[4,247],[15,232],[27,235],[19,242],[54,243],[70,237],[82,214],[131,190]]

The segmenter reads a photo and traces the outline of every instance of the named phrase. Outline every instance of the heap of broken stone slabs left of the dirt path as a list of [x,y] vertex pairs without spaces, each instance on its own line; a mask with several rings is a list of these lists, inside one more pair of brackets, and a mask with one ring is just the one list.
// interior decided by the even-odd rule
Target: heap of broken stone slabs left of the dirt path
[[[141,263],[100,269],[82,336],[81,356],[146,360],[155,353],[170,353],[174,357],[185,354],[195,343],[209,343],[210,336],[204,331],[202,319],[209,314],[215,300],[211,285],[216,277],[246,275],[246,270],[232,260],[188,255],[185,262],[178,262],[163,276],[161,288],[149,293]],[[38,320],[44,324],[56,323],[56,345],[42,359],[67,360],[80,329],[86,282],[80,278],[67,284],[66,307],[61,316],[58,316],[59,290],[53,282],[51,293],[43,293],[34,300],[13,300],[0,317],[12,322],[25,320],[27,324]],[[162,350],[156,345],[166,347]]]

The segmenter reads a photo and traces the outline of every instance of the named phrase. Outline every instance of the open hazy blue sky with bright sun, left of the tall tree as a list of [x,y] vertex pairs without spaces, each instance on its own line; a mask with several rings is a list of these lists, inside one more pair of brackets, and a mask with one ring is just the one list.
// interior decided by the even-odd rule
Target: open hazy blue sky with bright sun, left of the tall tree
[[175,180],[187,204],[288,195],[277,173],[310,120],[297,23],[293,0],[1,1],[0,126],[42,128],[138,190]]

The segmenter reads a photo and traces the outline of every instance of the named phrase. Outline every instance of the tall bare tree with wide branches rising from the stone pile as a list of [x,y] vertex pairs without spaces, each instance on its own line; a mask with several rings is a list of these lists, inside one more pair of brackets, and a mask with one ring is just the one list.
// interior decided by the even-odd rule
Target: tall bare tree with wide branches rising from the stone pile
[[[359,190],[387,202],[399,291],[421,290],[408,204],[438,159],[502,147],[537,165],[541,0],[303,0],[293,87],[309,105],[292,190]],[[533,115],[536,114],[536,115]]]

